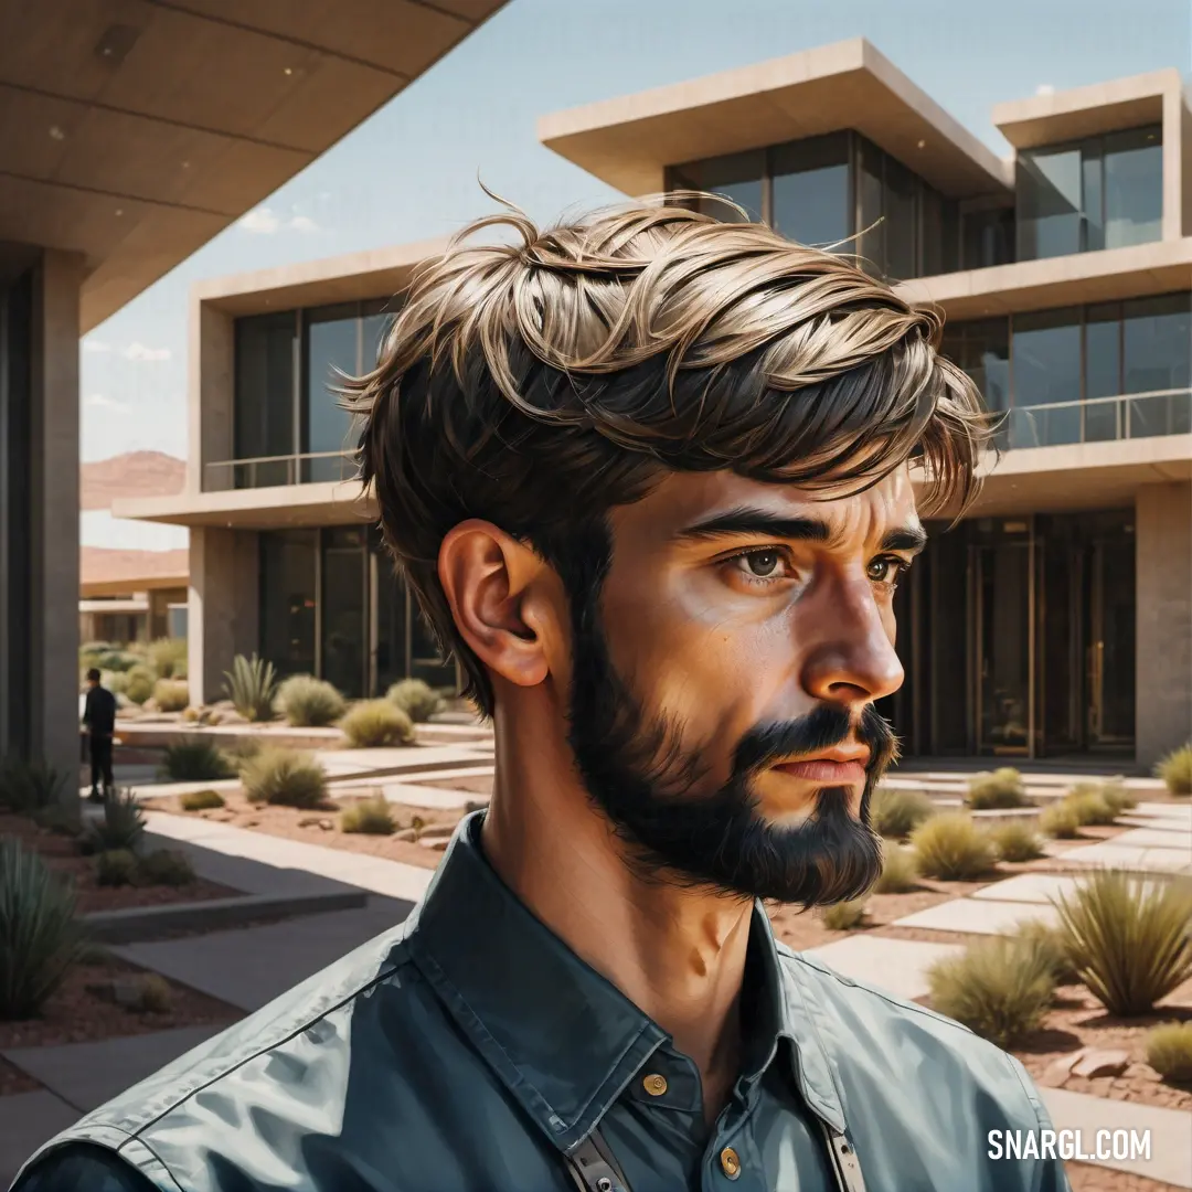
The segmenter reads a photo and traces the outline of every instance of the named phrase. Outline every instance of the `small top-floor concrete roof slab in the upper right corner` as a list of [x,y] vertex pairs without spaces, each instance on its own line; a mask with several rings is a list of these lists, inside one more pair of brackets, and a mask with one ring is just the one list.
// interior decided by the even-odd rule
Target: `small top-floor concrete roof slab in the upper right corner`
[[993,108],[993,123],[1016,149],[1062,144],[1080,137],[1159,124],[1163,98],[1182,87],[1175,69],[1115,79]]

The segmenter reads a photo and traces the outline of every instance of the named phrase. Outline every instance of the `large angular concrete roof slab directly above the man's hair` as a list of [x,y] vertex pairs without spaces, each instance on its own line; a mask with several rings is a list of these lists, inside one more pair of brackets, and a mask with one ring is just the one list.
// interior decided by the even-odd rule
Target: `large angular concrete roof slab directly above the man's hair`
[[542,117],[548,149],[627,194],[688,161],[856,129],[946,195],[1008,193],[1012,164],[864,38]]

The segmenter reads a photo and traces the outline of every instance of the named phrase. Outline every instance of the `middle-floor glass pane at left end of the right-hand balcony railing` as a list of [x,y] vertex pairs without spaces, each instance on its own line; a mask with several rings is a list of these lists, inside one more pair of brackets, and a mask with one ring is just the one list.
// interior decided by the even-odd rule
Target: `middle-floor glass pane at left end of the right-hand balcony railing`
[[1080,309],[1016,315],[1011,447],[1080,442]]

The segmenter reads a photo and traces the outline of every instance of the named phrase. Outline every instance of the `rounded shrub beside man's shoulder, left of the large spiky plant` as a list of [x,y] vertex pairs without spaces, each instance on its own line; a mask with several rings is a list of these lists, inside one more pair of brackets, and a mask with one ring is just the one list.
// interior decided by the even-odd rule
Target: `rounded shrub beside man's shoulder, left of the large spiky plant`
[[982,939],[927,973],[931,1004],[982,1038],[1006,1048],[1043,1019],[1055,976],[1038,950],[1014,939]]

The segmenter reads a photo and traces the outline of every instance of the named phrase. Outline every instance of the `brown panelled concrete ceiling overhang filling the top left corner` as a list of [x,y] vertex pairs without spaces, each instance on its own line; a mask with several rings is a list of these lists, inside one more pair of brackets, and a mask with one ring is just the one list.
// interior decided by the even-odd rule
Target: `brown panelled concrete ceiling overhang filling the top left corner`
[[77,254],[103,322],[503,0],[5,6],[0,241]]

